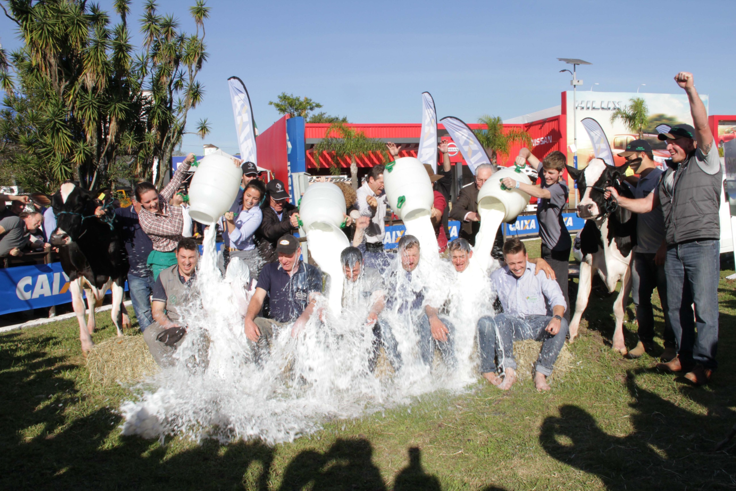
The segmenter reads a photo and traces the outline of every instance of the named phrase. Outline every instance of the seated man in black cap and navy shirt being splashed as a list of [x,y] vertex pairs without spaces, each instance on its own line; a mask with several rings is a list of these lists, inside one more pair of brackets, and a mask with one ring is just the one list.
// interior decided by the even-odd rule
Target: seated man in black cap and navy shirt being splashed
[[[275,252],[278,261],[261,269],[245,314],[245,335],[258,364],[268,350],[274,331],[290,322],[294,322],[292,336],[304,328],[314,311],[316,297],[322,292],[322,271],[300,260],[299,239],[288,234],[281,236]],[[256,317],[261,308],[263,317]]]

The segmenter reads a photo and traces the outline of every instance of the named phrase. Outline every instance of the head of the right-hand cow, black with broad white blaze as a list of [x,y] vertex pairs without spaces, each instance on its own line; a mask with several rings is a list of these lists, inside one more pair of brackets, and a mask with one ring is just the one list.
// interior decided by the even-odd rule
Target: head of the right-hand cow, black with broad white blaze
[[584,219],[603,218],[612,209],[612,199],[606,199],[604,194],[609,186],[618,186],[620,177],[626,172],[629,165],[615,167],[606,165],[600,158],[590,160],[585,169],[575,169],[567,166],[567,172],[573,176],[578,184],[580,202],[578,216]]

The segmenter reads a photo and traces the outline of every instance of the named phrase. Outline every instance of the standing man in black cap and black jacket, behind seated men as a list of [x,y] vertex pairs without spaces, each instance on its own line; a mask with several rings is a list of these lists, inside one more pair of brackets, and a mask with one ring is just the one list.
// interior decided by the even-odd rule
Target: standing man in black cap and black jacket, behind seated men
[[266,199],[263,199],[261,205],[263,220],[254,237],[261,258],[266,263],[276,262],[275,247],[280,236],[294,233],[299,227],[297,207],[286,199],[289,199],[289,193],[286,192],[283,182],[278,179],[270,180],[266,185]]

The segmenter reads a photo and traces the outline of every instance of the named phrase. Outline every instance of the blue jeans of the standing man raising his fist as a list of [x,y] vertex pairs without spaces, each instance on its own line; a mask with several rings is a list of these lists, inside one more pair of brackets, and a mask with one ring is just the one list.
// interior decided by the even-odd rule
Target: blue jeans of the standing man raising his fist
[[718,367],[715,352],[720,255],[721,241],[704,240],[668,247],[665,260],[667,301],[677,353],[686,360],[692,353],[696,363],[710,369]]

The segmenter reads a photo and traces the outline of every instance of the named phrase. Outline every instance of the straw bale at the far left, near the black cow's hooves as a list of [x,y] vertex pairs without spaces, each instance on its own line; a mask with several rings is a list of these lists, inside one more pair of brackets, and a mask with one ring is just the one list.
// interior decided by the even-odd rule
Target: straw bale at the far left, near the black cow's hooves
[[158,370],[142,335],[105,339],[87,354],[87,370],[93,384],[130,384]]

